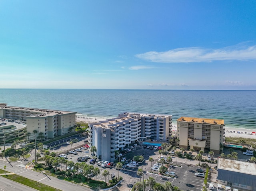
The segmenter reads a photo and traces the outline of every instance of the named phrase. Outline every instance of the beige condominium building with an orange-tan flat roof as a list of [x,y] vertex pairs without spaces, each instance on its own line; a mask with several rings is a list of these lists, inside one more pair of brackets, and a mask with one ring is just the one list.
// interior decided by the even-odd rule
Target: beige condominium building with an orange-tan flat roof
[[180,147],[208,150],[220,153],[220,144],[225,142],[224,120],[180,117],[177,120],[177,137]]

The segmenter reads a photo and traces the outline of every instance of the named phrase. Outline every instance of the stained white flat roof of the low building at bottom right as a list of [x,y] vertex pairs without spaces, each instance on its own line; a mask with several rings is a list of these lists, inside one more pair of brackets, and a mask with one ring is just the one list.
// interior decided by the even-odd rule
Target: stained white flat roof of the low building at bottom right
[[256,164],[238,160],[218,158],[218,169],[256,175]]

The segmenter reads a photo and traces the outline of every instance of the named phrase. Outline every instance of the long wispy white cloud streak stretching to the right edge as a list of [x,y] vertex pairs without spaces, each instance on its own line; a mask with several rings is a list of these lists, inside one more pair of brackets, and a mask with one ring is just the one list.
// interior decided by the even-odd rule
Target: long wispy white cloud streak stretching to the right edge
[[177,48],[165,52],[150,51],[135,55],[152,62],[190,63],[211,62],[216,60],[255,60],[256,45],[244,47],[236,45],[220,49],[204,49],[201,47]]

